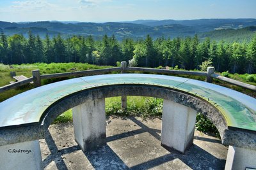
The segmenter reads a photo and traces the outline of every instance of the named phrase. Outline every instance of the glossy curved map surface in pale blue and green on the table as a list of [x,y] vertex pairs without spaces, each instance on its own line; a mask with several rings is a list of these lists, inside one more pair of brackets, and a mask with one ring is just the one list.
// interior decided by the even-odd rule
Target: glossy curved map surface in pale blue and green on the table
[[256,99],[204,81],[156,74],[107,74],[59,81],[29,90],[0,103],[0,127],[40,124],[51,104],[69,94],[106,85],[153,85],[180,90],[214,105],[228,127],[256,131]]

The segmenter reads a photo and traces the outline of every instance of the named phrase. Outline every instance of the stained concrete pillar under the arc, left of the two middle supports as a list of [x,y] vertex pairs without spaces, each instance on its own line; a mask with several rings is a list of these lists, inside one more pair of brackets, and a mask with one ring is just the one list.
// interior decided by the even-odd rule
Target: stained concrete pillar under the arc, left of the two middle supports
[[85,152],[106,144],[105,99],[95,99],[72,108],[77,144]]

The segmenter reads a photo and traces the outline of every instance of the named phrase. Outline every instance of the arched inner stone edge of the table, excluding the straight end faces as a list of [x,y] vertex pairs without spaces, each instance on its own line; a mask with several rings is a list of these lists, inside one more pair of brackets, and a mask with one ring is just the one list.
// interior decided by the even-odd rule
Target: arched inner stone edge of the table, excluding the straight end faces
[[52,106],[49,106],[49,110],[45,111],[42,116],[42,125],[44,125],[45,128],[49,127],[58,115],[74,106],[86,103],[86,101],[122,96],[124,94],[127,96],[158,97],[175,101],[176,103],[183,104],[184,106],[188,106],[193,110],[203,113],[216,125],[221,137],[225,129],[227,129],[227,124],[221,113],[210,103],[207,103],[207,101],[196,96],[191,96],[191,94],[154,85],[109,85],[71,94],[65,97],[65,99],[61,99],[52,104]]

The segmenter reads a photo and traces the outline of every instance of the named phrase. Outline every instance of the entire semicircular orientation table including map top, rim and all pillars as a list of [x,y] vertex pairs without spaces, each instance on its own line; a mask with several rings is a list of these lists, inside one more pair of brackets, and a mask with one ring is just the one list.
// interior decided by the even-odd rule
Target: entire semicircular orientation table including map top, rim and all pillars
[[81,149],[104,145],[105,98],[114,96],[163,98],[161,145],[181,153],[193,144],[196,113],[203,113],[229,145],[225,169],[256,168],[256,99],[188,78],[107,74],[51,83],[0,103],[0,169],[42,169],[38,139],[70,108]]

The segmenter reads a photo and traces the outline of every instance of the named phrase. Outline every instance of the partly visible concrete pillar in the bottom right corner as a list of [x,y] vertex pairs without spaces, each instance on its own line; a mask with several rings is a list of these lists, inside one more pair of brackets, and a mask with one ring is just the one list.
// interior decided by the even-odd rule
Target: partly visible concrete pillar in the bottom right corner
[[256,150],[228,146],[225,170],[256,169]]

